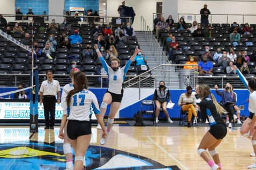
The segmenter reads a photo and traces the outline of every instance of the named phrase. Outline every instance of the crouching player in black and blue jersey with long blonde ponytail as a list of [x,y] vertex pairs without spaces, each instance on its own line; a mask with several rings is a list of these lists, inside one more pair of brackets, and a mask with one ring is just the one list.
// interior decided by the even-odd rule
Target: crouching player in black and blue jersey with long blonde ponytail
[[[209,98],[209,94],[211,98]],[[199,98],[202,100],[199,104],[202,121],[206,119],[209,121],[210,130],[202,138],[197,152],[211,167],[211,170],[220,170],[222,165],[215,149],[227,134],[226,125],[220,116],[225,109],[218,104],[215,96],[211,94],[209,86],[205,84],[199,85]],[[213,160],[206,152],[207,149]]]

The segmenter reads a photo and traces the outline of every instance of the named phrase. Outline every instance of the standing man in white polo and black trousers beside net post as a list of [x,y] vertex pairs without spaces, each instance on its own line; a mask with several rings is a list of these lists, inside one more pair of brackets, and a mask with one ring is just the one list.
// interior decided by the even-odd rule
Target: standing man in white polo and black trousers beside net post
[[[44,104],[44,117],[45,117],[45,128],[54,129],[55,122],[55,105],[56,95],[58,94],[57,103],[60,104],[60,85],[57,80],[53,79],[53,71],[46,71],[47,80],[42,82],[40,87],[40,105]],[[51,121],[49,117],[51,114]]]

